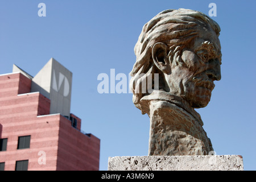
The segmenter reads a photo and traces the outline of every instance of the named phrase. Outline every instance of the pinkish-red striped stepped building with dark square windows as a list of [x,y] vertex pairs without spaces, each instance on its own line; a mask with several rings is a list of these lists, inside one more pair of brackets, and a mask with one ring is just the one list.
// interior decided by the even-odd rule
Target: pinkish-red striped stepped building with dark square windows
[[100,139],[76,115],[51,113],[32,82],[22,70],[0,75],[0,171],[98,170]]

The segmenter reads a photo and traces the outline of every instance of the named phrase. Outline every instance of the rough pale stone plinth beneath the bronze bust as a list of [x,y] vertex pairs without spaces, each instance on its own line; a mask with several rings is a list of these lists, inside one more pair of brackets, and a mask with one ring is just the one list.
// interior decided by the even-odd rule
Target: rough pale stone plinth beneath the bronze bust
[[243,171],[240,155],[115,156],[108,171]]

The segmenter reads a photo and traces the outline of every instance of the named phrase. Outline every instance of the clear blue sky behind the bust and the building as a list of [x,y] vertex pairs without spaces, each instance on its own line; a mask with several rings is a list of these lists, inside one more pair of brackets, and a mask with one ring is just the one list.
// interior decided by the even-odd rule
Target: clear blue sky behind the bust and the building
[[[38,4],[46,4],[46,17]],[[101,139],[100,170],[109,156],[147,155],[149,118],[131,93],[100,94],[97,76],[129,72],[142,27],[160,11],[192,9],[208,15],[216,3],[221,27],[221,81],[209,105],[197,109],[217,155],[242,155],[256,169],[255,1],[0,1],[0,74],[13,64],[30,75],[54,57],[73,73],[71,112],[82,130]],[[118,81],[115,82],[115,84]]]

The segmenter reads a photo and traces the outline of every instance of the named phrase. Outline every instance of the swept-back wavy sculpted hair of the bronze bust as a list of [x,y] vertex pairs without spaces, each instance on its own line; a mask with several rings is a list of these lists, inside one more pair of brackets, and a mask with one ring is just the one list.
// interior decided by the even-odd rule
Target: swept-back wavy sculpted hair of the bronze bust
[[181,59],[181,51],[198,36],[197,26],[211,27],[216,35],[220,33],[220,27],[214,20],[199,11],[187,9],[162,11],[143,26],[134,47],[137,59],[130,72],[132,77],[130,89],[133,92],[133,102],[136,107],[141,109],[139,101],[149,94],[141,92],[143,81],[153,76],[152,82],[154,82],[154,73],[159,73],[159,89],[169,91],[165,81],[162,81],[164,79],[162,72],[152,60],[154,44],[158,42],[166,44],[169,47],[170,63],[185,66]]

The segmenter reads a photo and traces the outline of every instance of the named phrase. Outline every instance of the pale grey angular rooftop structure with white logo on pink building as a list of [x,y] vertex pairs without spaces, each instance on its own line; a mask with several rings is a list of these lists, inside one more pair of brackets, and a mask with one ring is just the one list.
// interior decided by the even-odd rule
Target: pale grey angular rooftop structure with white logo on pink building
[[13,72],[20,72],[32,80],[31,92],[40,92],[51,100],[50,114],[60,113],[69,117],[71,108],[72,72],[51,58],[32,77],[16,65]]

